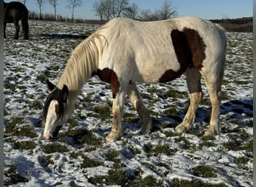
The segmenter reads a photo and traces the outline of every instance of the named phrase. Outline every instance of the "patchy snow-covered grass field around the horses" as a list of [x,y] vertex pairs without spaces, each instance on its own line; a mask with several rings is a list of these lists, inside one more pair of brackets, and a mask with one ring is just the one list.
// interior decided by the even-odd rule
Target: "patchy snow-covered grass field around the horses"
[[57,83],[72,50],[99,25],[29,21],[30,40],[4,40],[5,186],[253,186],[252,33],[228,32],[222,85],[222,134],[202,138],[210,102],[198,107],[193,131],[174,131],[186,114],[185,76],[168,84],[138,85],[153,132],[125,103],[125,134],[104,144],[112,126],[110,86],[92,78],[58,138],[42,137],[46,79]]

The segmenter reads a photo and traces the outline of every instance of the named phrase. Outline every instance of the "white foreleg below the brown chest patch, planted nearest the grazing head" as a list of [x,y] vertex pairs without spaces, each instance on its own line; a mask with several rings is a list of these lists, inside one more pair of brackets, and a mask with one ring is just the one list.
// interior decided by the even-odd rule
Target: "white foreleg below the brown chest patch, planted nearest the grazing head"
[[123,114],[124,114],[124,99],[125,91],[120,89],[113,99],[112,113],[113,113],[113,125],[112,131],[106,137],[106,143],[117,141],[124,133],[123,129]]

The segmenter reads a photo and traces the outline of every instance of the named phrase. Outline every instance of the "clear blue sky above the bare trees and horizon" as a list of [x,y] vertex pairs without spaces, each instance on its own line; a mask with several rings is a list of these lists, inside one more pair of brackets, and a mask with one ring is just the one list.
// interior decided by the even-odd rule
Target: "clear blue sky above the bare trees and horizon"
[[[6,2],[13,0],[5,0]],[[54,13],[48,0],[43,0],[42,13]],[[76,19],[99,19],[92,10],[95,0],[82,0],[82,6],[76,7]],[[165,0],[129,0],[138,4],[139,10],[159,9]],[[203,19],[240,18],[253,16],[253,0],[171,0],[171,4],[177,11],[177,16],[198,16]],[[28,10],[39,12],[36,0],[27,0]],[[67,0],[58,0],[57,14],[71,17],[67,9]]]

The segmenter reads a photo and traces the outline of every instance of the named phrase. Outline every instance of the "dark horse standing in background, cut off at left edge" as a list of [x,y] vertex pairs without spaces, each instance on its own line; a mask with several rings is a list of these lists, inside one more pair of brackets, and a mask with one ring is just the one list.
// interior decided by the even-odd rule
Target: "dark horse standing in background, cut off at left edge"
[[19,39],[19,20],[22,22],[22,34],[24,39],[28,39],[28,9],[24,4],[18,1],[12,1],[10,3],[4,2],[4,38],[6,24],[13,22],[16,28],[16,34],[14,39]]

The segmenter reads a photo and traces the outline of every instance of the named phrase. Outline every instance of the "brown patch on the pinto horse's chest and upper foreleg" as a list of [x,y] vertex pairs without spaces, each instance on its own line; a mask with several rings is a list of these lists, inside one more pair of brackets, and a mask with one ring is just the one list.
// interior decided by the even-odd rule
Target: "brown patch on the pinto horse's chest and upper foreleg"
[[95,74],[99,76],[99,78],[103,82],[108,82],[111,85],[112,96],[113,98],[115,98],[120,88],[117,74],[113,70],[110,70],[109,68],[104,68],[103,70],[97,70],[97,73]]

